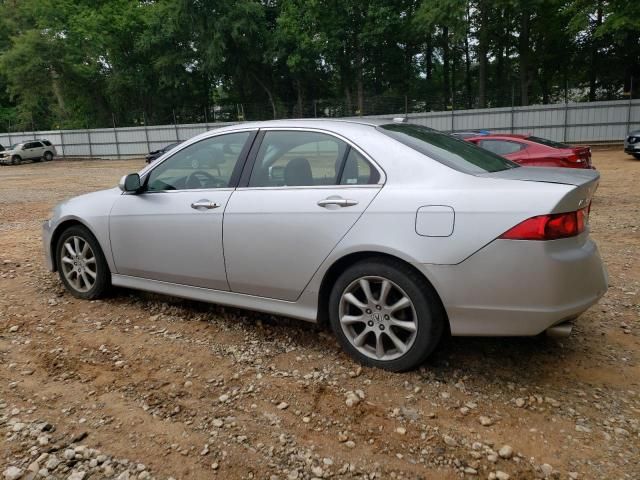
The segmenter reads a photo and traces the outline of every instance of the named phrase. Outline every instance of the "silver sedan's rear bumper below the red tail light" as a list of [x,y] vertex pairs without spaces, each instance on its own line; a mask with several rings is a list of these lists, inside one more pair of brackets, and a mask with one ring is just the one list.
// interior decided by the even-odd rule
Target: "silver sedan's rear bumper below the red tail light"
[[458,265],[423,267],[453,335],[537,335],[579,316],[608,285],[587,233],[547,242],[495,240]]

